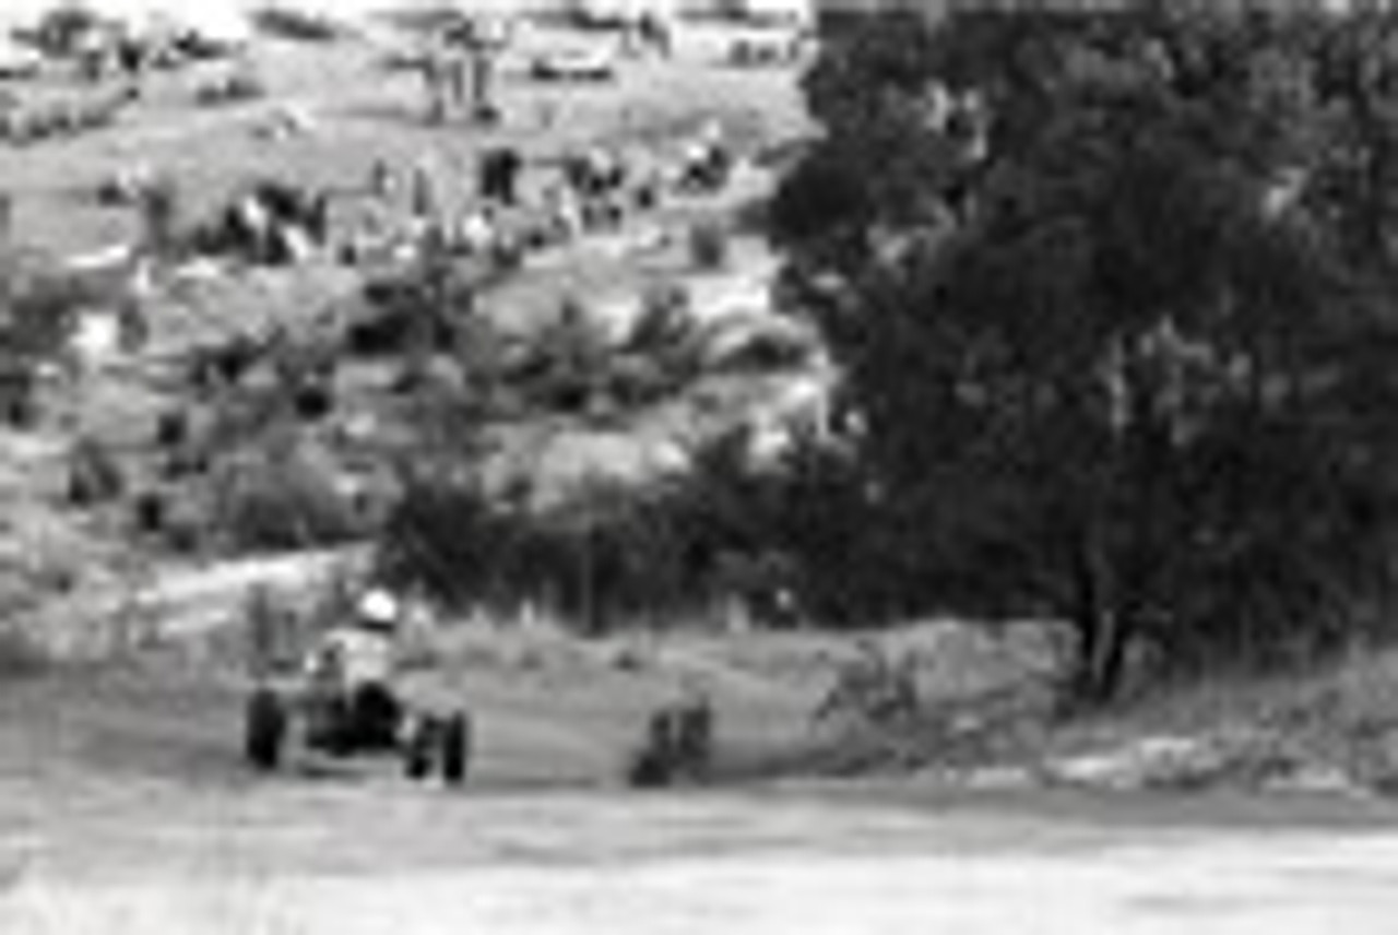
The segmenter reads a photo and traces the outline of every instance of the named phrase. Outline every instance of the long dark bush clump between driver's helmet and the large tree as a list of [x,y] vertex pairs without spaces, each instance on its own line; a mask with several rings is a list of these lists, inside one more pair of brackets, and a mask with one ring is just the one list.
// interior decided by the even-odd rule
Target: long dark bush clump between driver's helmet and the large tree
[[587,629],[705,616],[731,597],[763,619],[858,619],[877,580],[844,569],[864,517],[853,475],[823,454],[756,474],[745,453],[724,439],[682,479],[594,489],[547,514],[425,471],[390,510],[380,566],[447,604],[542,602]]

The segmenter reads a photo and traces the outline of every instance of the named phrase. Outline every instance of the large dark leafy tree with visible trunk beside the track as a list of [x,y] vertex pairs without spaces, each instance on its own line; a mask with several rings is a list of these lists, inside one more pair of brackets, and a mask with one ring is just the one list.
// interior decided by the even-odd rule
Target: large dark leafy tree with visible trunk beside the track
[[[1398,18],[889,14],[773,208],[900,609],[1053,612],[1078,697],[1338,647],[1383,594]],[[1383,197],[1380,197],[1383,196]]]

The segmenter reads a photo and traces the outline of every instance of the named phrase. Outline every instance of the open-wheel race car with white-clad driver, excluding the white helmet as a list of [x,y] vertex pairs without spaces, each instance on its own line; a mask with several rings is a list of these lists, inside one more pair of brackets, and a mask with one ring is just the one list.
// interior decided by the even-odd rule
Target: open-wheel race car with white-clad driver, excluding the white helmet
[[341,630],[317,647],[301,671],[260,678],[245,711],[247,762],[259,771],[275,771],[296,745],[334,759],[397,756],[408,778],[436,773],[449,785],[464,783],[471,759],[470,716],[433,704],[428,692],[412,690],[410,679],[380,678],[377,672],[362,678],[354,661],[372,654],[366,647],[376,651],[372,632]]

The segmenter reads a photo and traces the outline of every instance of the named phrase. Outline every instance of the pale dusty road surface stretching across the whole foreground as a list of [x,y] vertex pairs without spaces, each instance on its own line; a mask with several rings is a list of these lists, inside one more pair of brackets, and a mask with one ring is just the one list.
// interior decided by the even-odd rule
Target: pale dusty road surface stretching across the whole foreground
[[[6,935],[1383,932],[1378,805],[73,785],[6,798]],[[50,790],[53,792],[53,790]],[[861,804],[863,802],[863,804]],[[1300,806],[1304,811],[1306,806]]]

